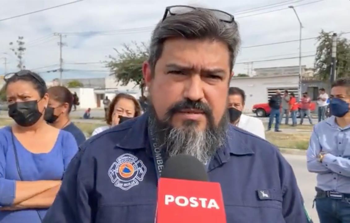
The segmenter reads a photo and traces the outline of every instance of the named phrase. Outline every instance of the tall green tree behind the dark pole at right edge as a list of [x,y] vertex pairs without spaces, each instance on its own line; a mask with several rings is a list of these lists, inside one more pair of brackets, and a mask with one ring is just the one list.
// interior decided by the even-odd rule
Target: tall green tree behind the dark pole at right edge
[[[315,58],[315,73],[321,80],[330,79],[332,62],[332,32],[321,31],[317,37],[317,50]],[[350,42],[338,36],[336,74],[338,77],[350,76]]]

